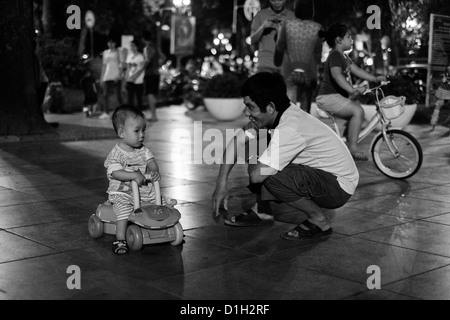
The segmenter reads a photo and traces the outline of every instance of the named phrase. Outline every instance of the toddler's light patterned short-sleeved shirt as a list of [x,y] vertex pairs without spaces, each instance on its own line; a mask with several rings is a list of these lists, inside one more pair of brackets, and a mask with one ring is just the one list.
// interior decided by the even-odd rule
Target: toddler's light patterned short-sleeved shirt
[[[145,146],[142,146],[140,149],[134,149],[132,152],[128,152],[123,150],[119,144],[117,144],[105,160],[105,167],[107,169],[107,176],[109,180],[109,188],[107,193],[128,194],[132,196],[133,189],[131,187],[131,181],[123,182],[115,180],[112,177],[113,172],[119,170],[139,170],[142,174],[145,174],[147,163],[153,158],[153,154]],[[155,191],[151,183],[140,187],[139,191],[143,201],[153,201],[155,199]]]

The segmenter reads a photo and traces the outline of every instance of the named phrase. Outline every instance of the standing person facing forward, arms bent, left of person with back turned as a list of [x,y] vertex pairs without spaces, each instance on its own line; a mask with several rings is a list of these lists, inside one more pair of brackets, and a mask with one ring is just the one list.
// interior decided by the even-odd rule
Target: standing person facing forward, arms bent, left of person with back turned
[[283,72],[273,61],[278,30],[283,21],[294,18],[294,12],[286,8],[286,0],[269,0],[269,7],[255,16],[250,38],[252,45],[258,47],[257,72]]

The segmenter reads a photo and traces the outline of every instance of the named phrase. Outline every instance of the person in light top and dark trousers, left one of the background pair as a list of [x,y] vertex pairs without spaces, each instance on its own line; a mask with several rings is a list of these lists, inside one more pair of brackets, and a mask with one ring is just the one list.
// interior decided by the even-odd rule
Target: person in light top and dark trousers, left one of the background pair
[[123,104],[121,70],[120,53],[117,49],[116,41],[110,38],[108,40],[108,49],[103,52],[103,65],[100,77],[103,88],[103,113],[99,116],[99,119],[109,119],[109,99],[114,91],[119,105]]

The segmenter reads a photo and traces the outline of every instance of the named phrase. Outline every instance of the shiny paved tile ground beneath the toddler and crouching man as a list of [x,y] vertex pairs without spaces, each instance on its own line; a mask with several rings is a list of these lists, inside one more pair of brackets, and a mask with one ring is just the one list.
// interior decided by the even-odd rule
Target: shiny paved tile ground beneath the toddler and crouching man
[[[228,227],[212,215],[219,167],[193,163],[202,158],[192,152],[194,121],[202,121],[203,132],[224,133],[244,118],[218,123],[180,106],[158,112],[146,141],[163,194],[178,200],[184,243],[116,256],[111,236],[91,239],[87,221],[106,198],[103,161],[116,143],[111,124],[81,113],[46,115],[59,123],[56,138],[0,140],[0,299],[450,299],[448,128],[407,127],[425,155],[407,181],[384,177],[371,161],[358,163],[357,193],[329,212],[333,236],[302,244],[280,238],[304,219],[283,206],[272,207],[271,227]],[[230,180],[231,213],[251,202],[246,183],[239,165]],[[73,265],[81,290],[67,288]],[[367,287],[370,266],[380,268],[380,290]]]

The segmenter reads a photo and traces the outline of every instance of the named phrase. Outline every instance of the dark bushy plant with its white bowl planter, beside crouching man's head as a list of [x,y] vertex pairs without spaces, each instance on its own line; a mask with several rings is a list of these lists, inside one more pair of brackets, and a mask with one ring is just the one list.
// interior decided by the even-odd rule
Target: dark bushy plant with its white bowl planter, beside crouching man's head
[[244,112],[240,96],[245,78],[226,72],[207,80],[203,88],[204,104],[209,113],[219,121],[232,121]]

